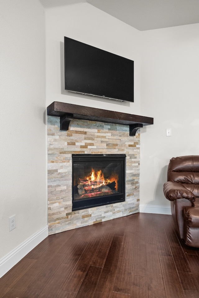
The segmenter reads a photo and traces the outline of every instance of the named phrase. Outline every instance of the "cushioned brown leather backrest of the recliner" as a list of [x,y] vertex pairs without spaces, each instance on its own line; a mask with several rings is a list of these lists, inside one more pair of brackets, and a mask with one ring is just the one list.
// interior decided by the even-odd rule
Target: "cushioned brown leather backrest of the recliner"
[[167,181],[181,183],[199,197],[199,155],[173,157],[168,165]]

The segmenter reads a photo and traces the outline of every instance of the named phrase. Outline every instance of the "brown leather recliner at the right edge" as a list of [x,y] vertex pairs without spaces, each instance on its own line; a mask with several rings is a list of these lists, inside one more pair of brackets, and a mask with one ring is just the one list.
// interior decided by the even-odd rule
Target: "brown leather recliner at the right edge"
[[181,239],[199,247],[199,156],[173,157],[168,165],[164,196]]

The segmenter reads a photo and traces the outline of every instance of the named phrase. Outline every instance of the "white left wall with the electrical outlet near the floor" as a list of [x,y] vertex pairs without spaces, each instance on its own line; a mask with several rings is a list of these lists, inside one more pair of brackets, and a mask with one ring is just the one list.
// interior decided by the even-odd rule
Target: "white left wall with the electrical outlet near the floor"
[[38,0],[0,7],[1,259],[47,224],[47,146],[44,9]]

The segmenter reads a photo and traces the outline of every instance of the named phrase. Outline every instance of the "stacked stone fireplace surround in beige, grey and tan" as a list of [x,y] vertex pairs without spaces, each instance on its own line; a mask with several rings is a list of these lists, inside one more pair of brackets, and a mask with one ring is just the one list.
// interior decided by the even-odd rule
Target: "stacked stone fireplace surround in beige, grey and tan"
[[[139,212],[140,133],[129,126],[73,119],[67,131],[48,116],[49,235]],[[126,154],[125,202],[72,211],[72,154]]]

